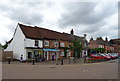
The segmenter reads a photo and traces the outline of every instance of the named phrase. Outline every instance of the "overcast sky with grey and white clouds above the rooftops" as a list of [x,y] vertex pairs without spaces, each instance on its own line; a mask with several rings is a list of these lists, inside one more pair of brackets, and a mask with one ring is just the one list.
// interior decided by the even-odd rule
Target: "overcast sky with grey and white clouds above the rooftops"
[[0,43],[9,41],[18,23],[91,37],[118,38],[118,2],[3,0]]

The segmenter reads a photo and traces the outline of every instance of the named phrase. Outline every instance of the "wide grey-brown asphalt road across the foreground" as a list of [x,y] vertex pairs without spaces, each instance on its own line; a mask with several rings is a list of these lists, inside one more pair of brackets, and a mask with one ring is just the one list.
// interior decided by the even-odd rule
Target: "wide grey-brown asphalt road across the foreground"
[[118,63],[75,65],[3,64],[3,79],[118,79]]

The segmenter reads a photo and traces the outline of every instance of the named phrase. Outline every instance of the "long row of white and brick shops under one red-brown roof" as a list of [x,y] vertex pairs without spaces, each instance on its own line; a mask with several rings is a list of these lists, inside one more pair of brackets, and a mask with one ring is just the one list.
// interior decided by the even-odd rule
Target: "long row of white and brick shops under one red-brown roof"
[[26,26],[18,24],[12,40],[5,51],[13,51],[13,58],[20,59],[23,55],[24,60],[29,60],[36,57],[50,60],[52,57],[72,57],[73,50],[70,46],[73,45],[74,39],[81,41],[83,50],[87,48],[87,40],[85,37],[74,35],[71,30],[70,34],[61,33],[41,27]]

